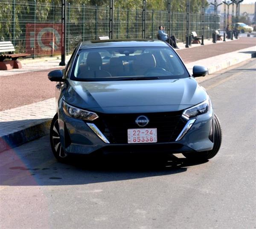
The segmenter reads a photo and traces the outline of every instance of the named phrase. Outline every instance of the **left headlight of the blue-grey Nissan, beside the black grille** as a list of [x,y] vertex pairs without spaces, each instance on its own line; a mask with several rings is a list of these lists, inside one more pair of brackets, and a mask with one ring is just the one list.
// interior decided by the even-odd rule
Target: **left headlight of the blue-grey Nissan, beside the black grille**
[[63,107],[64,113],[70,117],[80,118],[80,119],[84,119],[84,120],[88,120],[88,121],[93,121],[99,117],[94,112],[89,112],[89,111],[82,110],[77,107],[71,106],[71,105],[67,104],[65,101],[62,101],[62,107]]

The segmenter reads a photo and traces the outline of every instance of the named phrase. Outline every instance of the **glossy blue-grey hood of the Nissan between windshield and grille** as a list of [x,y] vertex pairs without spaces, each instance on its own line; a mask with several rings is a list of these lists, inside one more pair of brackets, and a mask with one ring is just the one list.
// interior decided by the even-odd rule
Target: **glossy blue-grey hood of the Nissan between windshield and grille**
[[67,80],[64,100],[104,113],[179,111],[207,98],[193,77],[174,80],[81,82]]

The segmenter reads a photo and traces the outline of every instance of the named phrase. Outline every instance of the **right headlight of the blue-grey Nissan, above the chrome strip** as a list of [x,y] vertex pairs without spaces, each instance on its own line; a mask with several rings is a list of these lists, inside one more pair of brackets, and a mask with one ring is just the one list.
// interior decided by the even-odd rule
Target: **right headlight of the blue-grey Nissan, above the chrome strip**
[[192,106],[189,109],[186,109],[183,112],[182,117],[189,119],[190,117],[195,117],[197,115],[204,114],[204,113],[208,112],[210,106],[211,106],[211,102],[208,97],[206,100],[204,100],[204,102],[199,103],[195,106]]

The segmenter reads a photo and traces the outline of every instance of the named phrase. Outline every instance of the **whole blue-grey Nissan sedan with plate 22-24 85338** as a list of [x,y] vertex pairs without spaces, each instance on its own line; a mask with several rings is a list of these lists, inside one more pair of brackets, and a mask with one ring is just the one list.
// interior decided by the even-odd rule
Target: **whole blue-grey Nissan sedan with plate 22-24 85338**
[[206,90],[160,40],[101,40],[79,44],[56,81],[52,152],[72,154],[183,153],[210,159],[221,146],[221,125]]

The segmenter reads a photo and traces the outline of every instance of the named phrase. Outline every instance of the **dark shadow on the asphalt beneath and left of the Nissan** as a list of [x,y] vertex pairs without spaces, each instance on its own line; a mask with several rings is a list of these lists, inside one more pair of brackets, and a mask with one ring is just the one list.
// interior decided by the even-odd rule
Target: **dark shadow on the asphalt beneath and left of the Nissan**
[[[62,164],[52,156],[48,145],[38,145],[38,148],[43,150],[41,149],[38,153],[33,151],[34,148],[28,148],[26,150],[30,152],[24,156],[22,155],[24,152],[19,152],[18,155],[8,152],[10,163],[1,165],[0,184],[2,186],[60,186],[102,183],[174,175],[186,172],[190,166],[199,164],[186,158],[159,154],[75,157],[69,164]],[[2,154],[0,154],[1,160],[7,160]],[[201,163],[205,162],[207,161]]]

